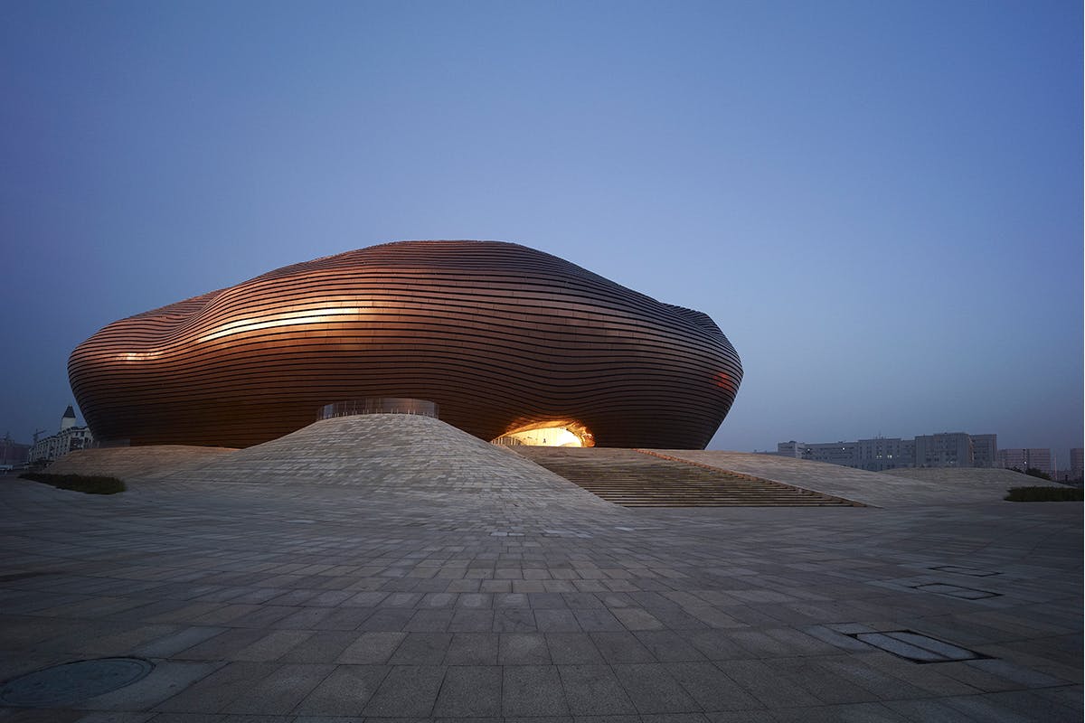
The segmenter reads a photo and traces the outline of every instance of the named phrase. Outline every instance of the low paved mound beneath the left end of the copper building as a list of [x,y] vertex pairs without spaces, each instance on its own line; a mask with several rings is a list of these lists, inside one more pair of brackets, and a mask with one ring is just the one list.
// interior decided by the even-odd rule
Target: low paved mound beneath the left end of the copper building
[[152,479],[206,464],[233,451],[226,447],[186,444],[80,450],[65,454],[46,472],[50,475],[104,475],[125,480]]

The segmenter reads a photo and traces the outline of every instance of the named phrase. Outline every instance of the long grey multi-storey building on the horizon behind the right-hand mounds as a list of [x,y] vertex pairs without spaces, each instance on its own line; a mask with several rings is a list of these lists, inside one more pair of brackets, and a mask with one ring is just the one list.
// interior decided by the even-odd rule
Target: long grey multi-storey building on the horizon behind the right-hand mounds
[[907,467],[997,466],[998,436],[962,431],[922,435],[915,439],[875,437],[854,442],[779,442],[779,456],[828,462],[868,472]]

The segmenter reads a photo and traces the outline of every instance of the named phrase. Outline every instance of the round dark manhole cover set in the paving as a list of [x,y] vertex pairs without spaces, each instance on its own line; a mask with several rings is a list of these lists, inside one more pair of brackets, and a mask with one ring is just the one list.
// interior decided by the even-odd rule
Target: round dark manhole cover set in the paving
[[0,701],[9,706],[60,706],[110,693],[151,672],[139,658],[100,658],[53,666],[20,675],[0,688]]

